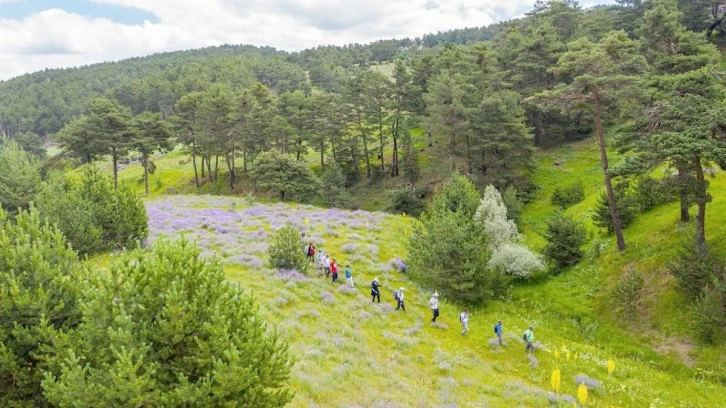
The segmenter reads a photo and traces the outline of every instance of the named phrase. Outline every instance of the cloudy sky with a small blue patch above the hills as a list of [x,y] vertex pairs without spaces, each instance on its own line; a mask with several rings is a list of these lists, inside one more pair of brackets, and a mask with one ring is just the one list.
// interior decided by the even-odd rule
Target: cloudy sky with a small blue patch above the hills
[[[583,7],[614,0],[580,0]],[[221,44],[296,51],[484,26],[534,0],[0,0],[0,80]]]

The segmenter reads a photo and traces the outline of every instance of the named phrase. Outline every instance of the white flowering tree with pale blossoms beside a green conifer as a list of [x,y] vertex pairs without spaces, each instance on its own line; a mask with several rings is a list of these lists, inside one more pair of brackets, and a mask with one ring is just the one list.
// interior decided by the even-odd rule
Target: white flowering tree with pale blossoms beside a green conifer
[[507,218],[507,207],[494,186],[484,190],[474,219],[489,242],[489,268],[520,277],[544,268],[539,255],[520,244],[522,235],[514,220]]

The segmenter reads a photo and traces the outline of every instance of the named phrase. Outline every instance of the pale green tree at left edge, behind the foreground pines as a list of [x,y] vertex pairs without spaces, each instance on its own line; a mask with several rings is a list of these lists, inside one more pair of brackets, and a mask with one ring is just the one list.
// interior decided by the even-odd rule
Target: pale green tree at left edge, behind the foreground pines
[[11,213],[27,209],[40,188],[40,163],[5,136],[0,139],[0,205]]

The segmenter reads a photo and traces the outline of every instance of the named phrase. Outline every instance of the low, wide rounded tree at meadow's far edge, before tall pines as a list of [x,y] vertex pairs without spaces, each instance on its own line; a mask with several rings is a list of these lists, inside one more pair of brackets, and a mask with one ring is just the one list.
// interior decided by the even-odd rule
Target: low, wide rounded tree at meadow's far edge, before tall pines
[[275,149],[257,156],[250,176],[260,191],[276,191],[285,197],[306,198],[318,190],[318,180],[308,166]]

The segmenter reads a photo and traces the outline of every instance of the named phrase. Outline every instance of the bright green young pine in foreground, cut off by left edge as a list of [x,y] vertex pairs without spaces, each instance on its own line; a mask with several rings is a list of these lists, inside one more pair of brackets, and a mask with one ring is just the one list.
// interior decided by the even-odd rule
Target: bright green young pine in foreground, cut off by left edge
[[0,405],[47,406],[43,372],[80,321],[78,260],[35,209],[0,224]]

